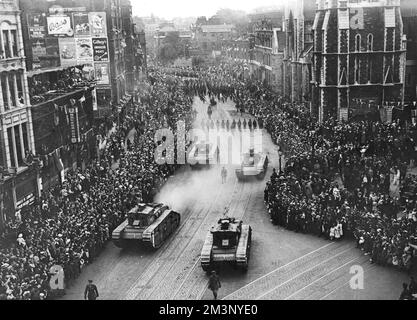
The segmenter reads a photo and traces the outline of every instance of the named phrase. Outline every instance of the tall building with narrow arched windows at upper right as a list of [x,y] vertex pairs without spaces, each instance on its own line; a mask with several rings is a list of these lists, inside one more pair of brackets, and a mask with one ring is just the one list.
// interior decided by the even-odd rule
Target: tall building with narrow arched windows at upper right
[[313,34],[313,112],[320,121],[403,103],[406,36],[399,0],[319,0]]

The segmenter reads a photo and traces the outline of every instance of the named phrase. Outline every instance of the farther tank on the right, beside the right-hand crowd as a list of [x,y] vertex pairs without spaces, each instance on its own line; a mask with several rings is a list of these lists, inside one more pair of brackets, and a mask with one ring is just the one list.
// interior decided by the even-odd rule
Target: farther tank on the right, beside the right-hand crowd
[[242,155],[240,168],[236,169],[236,177],[239,181],[248,177],[257,177],[259,180],[265,178],[268,170],[268,156],[264,153],[255,153],[254,148]]

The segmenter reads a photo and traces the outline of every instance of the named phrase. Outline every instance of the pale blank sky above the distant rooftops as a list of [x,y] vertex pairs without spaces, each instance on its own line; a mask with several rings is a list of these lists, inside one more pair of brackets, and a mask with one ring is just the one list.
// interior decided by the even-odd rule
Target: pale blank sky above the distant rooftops
[[279,6],[285,0],[131,0],[133,15],[160,18],[213,16],[218,9],[250,12],[263,6]]

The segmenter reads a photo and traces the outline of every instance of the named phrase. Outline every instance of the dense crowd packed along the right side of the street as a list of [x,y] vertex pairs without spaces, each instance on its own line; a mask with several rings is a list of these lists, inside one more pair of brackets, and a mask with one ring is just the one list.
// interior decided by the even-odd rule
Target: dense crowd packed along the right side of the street
[[200,71],[188,90],[204,99],[232,99],[252,114],[285,155],[265,202],[274,223],[330,240],[353,237],[372,263],[409,272],[417,245],[417,128],[400,121],[319,123],[256,81],[242,81],[232,64]]

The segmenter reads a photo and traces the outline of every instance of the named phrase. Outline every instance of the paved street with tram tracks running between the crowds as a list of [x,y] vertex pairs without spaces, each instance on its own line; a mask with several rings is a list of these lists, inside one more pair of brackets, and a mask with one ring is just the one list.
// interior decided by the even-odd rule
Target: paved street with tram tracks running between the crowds
[[[206,117],[207,103],[196,101],[195,107],[198,126]],[[213,117],[238,115],[231,103],[220,103]],[[266,132],[262,148],[270,159],[269,177],[272,167],[278,167],[278,153]],[[353,242],[329,242],[272,225],[263,203],[267,178],[239,183],[233,166],[228,166],[227,183],[221,184],[220,170],[177,172],[156,199],[181,213],[175,234],[157,251],[121,250],[109,243],[63,299],[82,299],[88,279],[94,280],[100,299],[212,299],[199,255],[207,231],[225,208],[229,216],[252,226],[253,245],[247,273],[229,267],[221,270],[219,298],[398,299],[401,283],[408,282],[405,274],[370,264]],[[354,265],[364,269],[363,290],[349,287]]]

